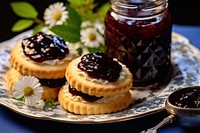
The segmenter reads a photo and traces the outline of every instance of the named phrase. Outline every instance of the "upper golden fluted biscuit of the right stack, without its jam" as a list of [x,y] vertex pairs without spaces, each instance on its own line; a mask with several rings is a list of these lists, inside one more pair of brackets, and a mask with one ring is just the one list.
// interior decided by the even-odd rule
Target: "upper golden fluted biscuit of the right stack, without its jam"
[[72,88],[95,96],[111,96],[127,92],[132,87],[133,76],[129,69],[122,65],[122,78],[115,82],[92,79],[84,71],[77,68],[81,57],[72,60],[66,70],[65,77]]

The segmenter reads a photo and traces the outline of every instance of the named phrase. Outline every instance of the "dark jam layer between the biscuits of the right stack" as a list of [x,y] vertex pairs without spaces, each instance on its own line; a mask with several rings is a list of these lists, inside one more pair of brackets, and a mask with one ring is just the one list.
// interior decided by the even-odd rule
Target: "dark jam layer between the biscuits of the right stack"
[[73,95],[73,96],[80,96],[81,98],[83,98],[85,101],[87,102],[95,102],[103,97],[96,97],[96,96],[91,96],[88,94],[85,94],[81,91],[77,91],[75,88],[71,88],[70,85],[68,87],[69,92]]

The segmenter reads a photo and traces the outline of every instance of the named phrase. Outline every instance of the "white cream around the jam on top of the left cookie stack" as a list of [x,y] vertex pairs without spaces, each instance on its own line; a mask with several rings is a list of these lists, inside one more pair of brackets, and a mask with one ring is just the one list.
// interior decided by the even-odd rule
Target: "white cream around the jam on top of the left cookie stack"
[[[45,60],[45,61],[43,61],[43,62],[40,62],[40,64],[41,64],[41,65],[52,65],[52,66],[54,66],[54,65],[62,65],[62,64],[64,64],[64,63],[69,62],[69,61],[71,61],[72,59],[78,57],[77,51],[76,51],[75,49],[73,49],[72,46],[70,46],[70,45],[68,45],[68,44],[67,44],[67,46],[68,46],[68,49],[69,49],[69,53],[65,56],[65,58],[63,58],[63,59]],[[37,63],[37,62],[35,62],[35,61],[32,61],[32,60],[31,60],[29,57],[27,57],[26,55],[24,55],[23,49],[22,49],[21,46],[20,46],[20,56],[21,56],[22,58],[24,58],[25,60],[29,61],[29,62]]]

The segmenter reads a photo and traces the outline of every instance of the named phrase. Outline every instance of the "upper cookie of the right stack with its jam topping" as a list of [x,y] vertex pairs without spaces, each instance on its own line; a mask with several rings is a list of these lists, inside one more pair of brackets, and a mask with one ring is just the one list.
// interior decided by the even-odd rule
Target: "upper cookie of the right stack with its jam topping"
[[86,54],[67,67],[66,79],[72,88],[96,96],[110,96],[128,91],[133,77],[129,69],[104,53]]

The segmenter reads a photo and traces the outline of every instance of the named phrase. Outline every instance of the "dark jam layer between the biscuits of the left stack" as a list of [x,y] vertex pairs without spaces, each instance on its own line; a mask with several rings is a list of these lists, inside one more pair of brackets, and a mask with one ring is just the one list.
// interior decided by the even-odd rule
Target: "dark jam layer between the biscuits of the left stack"
[[48,86],[50,88],[57,88],[61,87],[65,84],[65,78],[58,78],[58,79],[39,79],[40,83],[44,86]]

